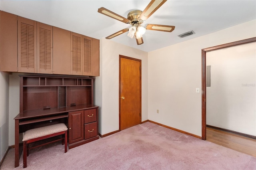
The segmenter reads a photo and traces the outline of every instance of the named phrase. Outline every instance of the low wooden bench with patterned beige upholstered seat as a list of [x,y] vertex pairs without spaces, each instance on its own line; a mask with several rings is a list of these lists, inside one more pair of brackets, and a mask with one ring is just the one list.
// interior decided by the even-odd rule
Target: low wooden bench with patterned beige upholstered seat
[[[32,142],[36,142],[39,140],[44,140],[47,138],[51,138],[54,136],[59,136],[62,135],[62,138],[54,140],[54,141],[50,141],[50,142],[46,142],[44,144],[40,144],[34,147],[28,147],[28,144],[32,143]],[[65,135],[65,137],[63,138],[63,135]],[[36,148],[38,146],[43,146],[45,144],[49,144],[52,142],[56,142],[62,140],[62,144],[65,143],[65,153],[67,152],[67,143],[68,143],[68,128],[66,127],[66,125],[64,123],[58,123],[58,124],[54,124],[54,125],[49,125],[49,126],[45,126],[45,127],[40,127],[40,128],[33,128],[30,130],[27,130],[24,133],[23,136],[23,168],[27,167],[27,156],[28,156],[28,150],[32,149],[32,148]]]

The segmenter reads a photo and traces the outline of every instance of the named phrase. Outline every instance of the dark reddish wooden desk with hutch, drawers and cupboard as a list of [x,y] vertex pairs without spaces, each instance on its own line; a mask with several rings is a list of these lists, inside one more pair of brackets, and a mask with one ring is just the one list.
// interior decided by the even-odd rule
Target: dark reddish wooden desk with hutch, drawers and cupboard
[[22,153],[20,135],[56,123],[68,127],[68,148],[98,136],[98,106],[93,104],[95,77],[20,75],[20,113],[15,120],[15,167]]

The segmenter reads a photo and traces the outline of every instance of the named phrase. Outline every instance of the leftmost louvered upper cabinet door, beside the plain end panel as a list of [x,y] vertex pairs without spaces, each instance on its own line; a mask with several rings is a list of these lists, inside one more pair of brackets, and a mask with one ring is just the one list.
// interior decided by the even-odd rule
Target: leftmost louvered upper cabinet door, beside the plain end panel
[[36,73],[36,21],[18,18],[18,72]]

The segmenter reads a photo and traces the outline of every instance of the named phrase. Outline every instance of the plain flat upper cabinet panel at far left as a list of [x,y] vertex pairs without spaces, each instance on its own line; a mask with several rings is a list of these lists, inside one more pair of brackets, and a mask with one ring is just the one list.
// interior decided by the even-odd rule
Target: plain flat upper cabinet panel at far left
[[0,71],[18,71],[17,16],[0,11]]

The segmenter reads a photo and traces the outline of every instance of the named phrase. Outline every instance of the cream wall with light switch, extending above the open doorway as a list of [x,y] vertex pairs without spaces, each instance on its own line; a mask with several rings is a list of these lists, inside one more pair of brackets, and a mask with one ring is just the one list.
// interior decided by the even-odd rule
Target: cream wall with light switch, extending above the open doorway
[[148,119],[202,136],[201,49],[256,37],[255,30],[252,20],[149,52]]

